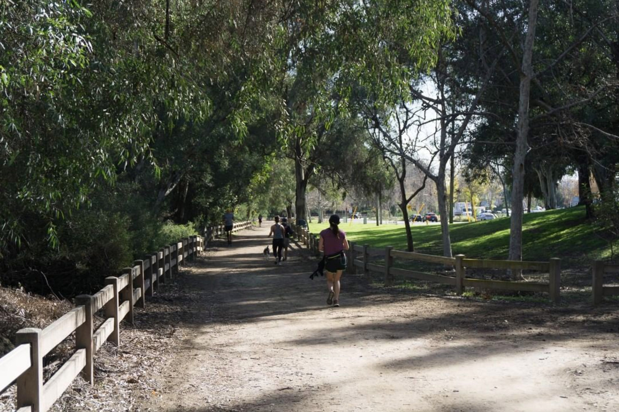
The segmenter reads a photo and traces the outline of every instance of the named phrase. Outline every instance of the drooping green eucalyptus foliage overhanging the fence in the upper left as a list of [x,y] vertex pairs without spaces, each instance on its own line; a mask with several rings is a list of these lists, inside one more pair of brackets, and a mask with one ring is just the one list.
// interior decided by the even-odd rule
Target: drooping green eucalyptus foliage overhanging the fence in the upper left
[[262,115],[280,6],[0,2],[0,253],[40,226],[54,244],[58,220],[119,174],[152,174],[152,204],[178,202],[202,137],[241,142]]

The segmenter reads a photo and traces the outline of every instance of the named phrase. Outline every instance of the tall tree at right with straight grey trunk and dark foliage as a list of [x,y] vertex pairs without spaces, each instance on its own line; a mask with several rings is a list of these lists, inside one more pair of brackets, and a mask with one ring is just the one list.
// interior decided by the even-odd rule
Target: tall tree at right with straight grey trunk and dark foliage
[[[483,18],[488,32],[494,33],[511,58],[511,64],[500,73],[503,79],[495,82],[501,87],[501,92],[496,93],[498,101],[488,102],[488,105],[517,108],[514,109],[517,118],[508,116],[504,122],[508,127],[517,122],[511,162],[513,213],[509,259],[519,260],[522,258],[522,199],[528,153],[536,146],[548,144],[543,140],[551,128],[554,129],[555,150],[580,147],[582,152],[594,153],[592,148],[597,139],[589,137],[612,135],[608,129],[602,131],[578,112],[591,105],[608,105],[609,92],[616,90],[617,82],[610,79],[608,69],[603,68],[612,62],[613,54],[602,49],[612,51],[609,39],[616,35],[617,6],[612,1],[556,0],[540,4],[532,0],[524,9],[517,1],[465,1]],[[509,33],[516,35],[510,38]],[[524,46],[521,49],[514,44]],[[587,67],[589,63],[593,66]],[[579,67],[587,68],[581,71]],[[513,95],[508,88],[519,89],[517,105],[514,100],[510,103],[500,98]],[[549,163],[548,167],[553,166]],[[586,173],[586,167],[582,171]]]

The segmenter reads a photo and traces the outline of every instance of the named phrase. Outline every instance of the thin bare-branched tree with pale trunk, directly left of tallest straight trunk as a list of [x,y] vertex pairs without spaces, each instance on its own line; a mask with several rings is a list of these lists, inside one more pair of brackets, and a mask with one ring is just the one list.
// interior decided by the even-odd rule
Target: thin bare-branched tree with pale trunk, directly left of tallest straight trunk
[[[400,93],[399,105],[386,109],[370,102],[365,114],[369,126],[379,132],[375,139],[379,147],[410,161],[436,185],[443,254],[448,257],[452,251],[446,173],[469,127],[486,114],[479,103],[505,57],[504,48],[487,45],[487,29],[470,9],[459,13],[454,24],[462,35],[440,44],[435,66],[429,74],[409,82],[405,93]],[[478,53],[475,60],[470,58],[471,49]],[[399,113],[407,119],[406,130],[394,133],[390,124]],[[409,139],[399,139],[399,134],[408,134]]]

